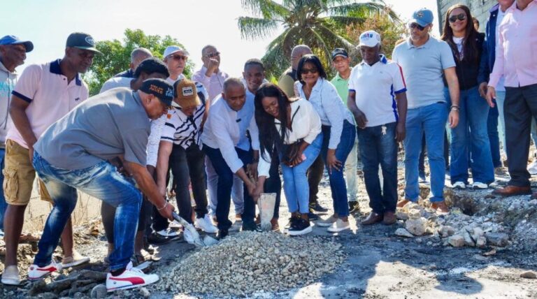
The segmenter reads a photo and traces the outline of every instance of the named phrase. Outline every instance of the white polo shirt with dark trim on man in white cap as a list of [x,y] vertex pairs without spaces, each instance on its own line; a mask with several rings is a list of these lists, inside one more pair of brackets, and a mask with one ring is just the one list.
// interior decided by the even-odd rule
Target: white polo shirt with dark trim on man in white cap
[[372,66],[361,61],[352,68],[349,91],[356,93],[356,105],[366,115],[366,126],[399,120],[395,94],[406,92],[403,71],[384,55],[380,55],[380,61]]

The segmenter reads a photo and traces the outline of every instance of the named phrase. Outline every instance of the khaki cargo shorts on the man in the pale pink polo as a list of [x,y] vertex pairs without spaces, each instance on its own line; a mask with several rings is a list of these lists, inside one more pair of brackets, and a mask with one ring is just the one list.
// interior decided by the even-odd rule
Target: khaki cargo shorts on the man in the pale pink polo
[[[27,205],[36,178],[36,170],[31,165],[29,150],[13,140],[6,140],[6,156],[3,168],[3,196],[10,205]],[[39,182],[41,200],[52,203],[45,184]]]

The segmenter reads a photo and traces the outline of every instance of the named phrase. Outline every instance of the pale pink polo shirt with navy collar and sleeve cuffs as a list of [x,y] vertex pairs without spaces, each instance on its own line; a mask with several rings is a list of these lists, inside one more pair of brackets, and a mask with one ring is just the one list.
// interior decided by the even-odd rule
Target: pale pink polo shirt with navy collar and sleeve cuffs
[[[11,92],[29,103],[26,115],[36,138],[89,96],[87,85],[80,74],[67,83],[67,77],[62,75],[59,68],[59,61],[61,59],[28,66]],[[10,127],[6,139],[28,148],[15,126]]]

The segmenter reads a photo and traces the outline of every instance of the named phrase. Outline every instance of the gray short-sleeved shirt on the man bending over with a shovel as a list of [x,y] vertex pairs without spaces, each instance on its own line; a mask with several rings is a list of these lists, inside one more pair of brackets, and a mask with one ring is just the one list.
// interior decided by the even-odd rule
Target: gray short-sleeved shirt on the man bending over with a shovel
[[150,121],[131,89],[93,96],[52,124],[34,149],[52,166],[78,170],[123,155],[145,166]]

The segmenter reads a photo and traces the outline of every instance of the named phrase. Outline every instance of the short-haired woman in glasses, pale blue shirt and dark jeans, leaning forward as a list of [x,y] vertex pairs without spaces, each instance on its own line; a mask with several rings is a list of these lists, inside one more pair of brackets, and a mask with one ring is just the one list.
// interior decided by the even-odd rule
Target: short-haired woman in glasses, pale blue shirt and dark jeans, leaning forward
[[327,80],[327,73],[320,59],[304,55],[296,70],[299,74],[299,95],[307,99],[319,114],[322,122],[321,157],[329,178],[334,214],[320,221],[319,226],[329,226],[328,231],[337,233],[350,228],[348,216],[347,186],[343,179],[343,165],[355,145],[355,119],[339,96],[336,87]]

